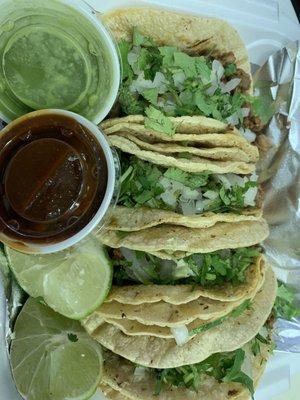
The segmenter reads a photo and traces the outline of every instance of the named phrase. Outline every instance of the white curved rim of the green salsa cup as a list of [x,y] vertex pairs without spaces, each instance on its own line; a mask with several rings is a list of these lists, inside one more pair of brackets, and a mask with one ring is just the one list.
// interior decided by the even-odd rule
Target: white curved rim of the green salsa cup
[[[7,0],[0,0],[0,3],[5,3],[6,1]],[[65,6],[73,8],[78,13],[80,13],[84,18],[86,18],[86,20],[88,20],[89,23],[93,25],[93,27],[98,32],[99,37],[101,37],[104,44],[106,45],[106,48],[110,55],[112,63],[112,69],[111,69],[112,86],[109,92],[109,96],[106,99],[105,106],[101,108],[101,110],[97,113],[97,115],[94,118],[91,119],[92,122],[94,122],[95,124],[99,124],[108,115],[109,111],[113,107],[117,99],[121,84],[121,64],[120,64],[120,57],[117,44],[112,35],[110,34],[110,32],[104,26],[104,24],[99,20],[99,18],[97,18],[97,14],[92,8],[92,6],[90,6],[87,2],[85,2],[84,0],[75,0],[75,1],[60,0],[60,3],[62,3]],[[34,111],[40,111],[40,110],[33,110],[31,112]],[[28,115],[28,113],[24,115]],[[8,118],[1,110],[0,110],[0,118],[6,123],[12,122],[12,120]]]

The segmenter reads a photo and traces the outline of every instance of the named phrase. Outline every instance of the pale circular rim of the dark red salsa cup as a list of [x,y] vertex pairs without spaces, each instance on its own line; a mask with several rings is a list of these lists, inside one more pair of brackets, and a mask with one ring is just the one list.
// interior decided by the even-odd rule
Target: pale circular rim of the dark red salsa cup
[[[25,246],[22,247],[22,252],[24,252],[24,253],[27,252],[27,253],[37,253],[37,254],[50,254],[50,253],[55,253],[58,251],[66,250],[67,248],[76,245],[82,239],[84,239],[89,234],[91,234],[97,228],[97,226],[101,223],[101,221],[104,219],[105,214],[107,213],[109,206],[112,202],[113,195],[115,192],[116,170],[115,170],[115,162],[114,162],[112,150],[108,144],[105,134],[101,131],[101,129],[96,124],[89,121],[87,118],[85,118],[79,114],[76,114],[72,111],[61,110],[61,109],[38,110],[38,111],[33,111],[31,113],[25,114],[25,115],[15,119],[1,131],[1,134],[2,133],[5,134],[5,131],[7,129],[11,129],[12,126],[19,124],[24,119],[36,118],[41,115],[47,115],[47,114],[63,115],[66,117],[70,117],[70,118],[76,120],[78,123],[80,123],[81,125],[83,125],[85,128],[87,128],[89,130],[89,132],[93,135],[93,137],[100,144],[100,146],[103,150],[103,153],[105,155],[106,164],[107,164],[107,172],[108,172],[107,186],[106,186],[105,195],[103,197],[103,200],[102,200],[100,207],[98,208],[96,214],[87,223],[87,225],[85,227],[83,227],[79,232],[77,232],[74,236],[72,236],[68,239],[65,239],[61,242],[54,243],[54,244],[39,244],[39,243],[33,243],[30,240],[24,241],[23,244]],[[2,239],[2,240],[5,242],[4,239]],[[13,243],[15,242],[15,240],[8,238],[7,242],[8,242],[8,246],[13,247]],[[19,242],[22,242],[22,241],[19,240]]]

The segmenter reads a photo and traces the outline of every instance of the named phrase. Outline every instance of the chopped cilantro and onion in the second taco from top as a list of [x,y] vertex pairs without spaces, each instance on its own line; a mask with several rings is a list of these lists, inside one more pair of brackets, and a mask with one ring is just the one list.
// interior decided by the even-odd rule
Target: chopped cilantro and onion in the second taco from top
[[[251,177],[219,176],[207,171],[189,173],[178,168],[156,166],[135,156],[124,157],[122,153],[120,158],[124,171],[120,205],[146,206],[179,214],[205,211],[240,213],[245,207],[255,205],[257,182]],[[249,192],[251,188],[256,189],[252,194]]]

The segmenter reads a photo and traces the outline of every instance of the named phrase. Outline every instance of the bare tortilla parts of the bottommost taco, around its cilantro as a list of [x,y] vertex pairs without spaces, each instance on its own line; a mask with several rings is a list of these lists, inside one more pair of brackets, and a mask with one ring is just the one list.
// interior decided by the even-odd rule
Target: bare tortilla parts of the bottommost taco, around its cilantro
[[[268,345],[261,344],[261,351],[256,356],[251,352],[251,345],[246,344],[247,364],[252,370],[254,386],[257,387],[270,356]],[[130,361],[105,352],[104,372],[101,389],[111,400],[249,400],[250,394],[245,386],[235,382],[218,382],[208,375],[201,375],[198,392],[184,387],[163,388],[159,395],[155,392],[155,377],[151,370],[146,370],[141,377],[135,376],[135,365]],[[123,396],[123,397],[122,397]]]

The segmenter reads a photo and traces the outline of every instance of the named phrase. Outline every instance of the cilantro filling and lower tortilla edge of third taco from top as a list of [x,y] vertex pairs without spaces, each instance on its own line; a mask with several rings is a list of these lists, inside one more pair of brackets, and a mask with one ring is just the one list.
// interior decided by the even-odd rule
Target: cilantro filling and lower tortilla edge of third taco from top
[[108,303],[179,305],[199,297],[235,302],[257,287],[265,268],[264,257],[255,247],[167,261],[125,248],[110,253],[114,278]]

